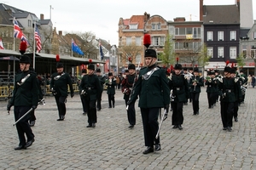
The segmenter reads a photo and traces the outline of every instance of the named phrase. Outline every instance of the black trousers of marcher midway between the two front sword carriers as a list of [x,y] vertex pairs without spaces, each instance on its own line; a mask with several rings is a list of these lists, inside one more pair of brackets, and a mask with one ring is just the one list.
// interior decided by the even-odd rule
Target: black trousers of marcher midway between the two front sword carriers
[[85,107],[87,108],[87,116],[88,116],[88,123],[91,125],[92,123],[97,122],[97,115],[96,115],[96,99],[86,99]]

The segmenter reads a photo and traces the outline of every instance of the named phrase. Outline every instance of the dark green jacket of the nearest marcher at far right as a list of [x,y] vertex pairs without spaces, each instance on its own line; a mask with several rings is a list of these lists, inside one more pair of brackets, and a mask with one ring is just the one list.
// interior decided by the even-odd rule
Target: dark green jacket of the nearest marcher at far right
[[[220,101],[222,102],[235,102],[237,89],[239,87],[238,79],[235,78],[221,78],[218,81],[218,94],[220,95]],[[240,94],[238,94],[240,95]]]

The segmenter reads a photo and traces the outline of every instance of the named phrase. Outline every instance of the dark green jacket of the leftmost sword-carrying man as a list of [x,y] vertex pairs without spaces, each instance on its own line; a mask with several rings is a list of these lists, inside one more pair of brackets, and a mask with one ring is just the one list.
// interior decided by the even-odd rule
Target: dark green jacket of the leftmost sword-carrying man
[[[21,79],[30,75],[26,81],[19,85]],[[10,100],[11,105],[15,106],[32,106],[38,105],[38,78],[32,71],[21,71],[15,76],[15,88],[13,97]]]

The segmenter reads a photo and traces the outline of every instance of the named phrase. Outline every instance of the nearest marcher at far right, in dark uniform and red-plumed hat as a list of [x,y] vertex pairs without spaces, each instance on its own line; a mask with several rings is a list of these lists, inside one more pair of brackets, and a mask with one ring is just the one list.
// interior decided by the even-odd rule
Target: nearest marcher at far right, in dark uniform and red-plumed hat
[[232,119],[234,114],[234,103],[236,101],[235,92],[237,87],[238,79],[232,78],[231,68],[229,61],[226,62],[224,67],[224,77],[218,78],[218,94],[220,96],[220,113],[221,120],[223,123],[223,130],[232,131]]

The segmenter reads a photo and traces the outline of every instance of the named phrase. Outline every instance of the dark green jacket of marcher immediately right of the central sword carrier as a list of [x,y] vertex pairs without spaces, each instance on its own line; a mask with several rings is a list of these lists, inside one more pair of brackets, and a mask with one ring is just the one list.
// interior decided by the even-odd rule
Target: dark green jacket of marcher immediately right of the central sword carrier
[[188,81],[184,75],[172,75],[169,81],[169,88],[172,90],[172,96],[175,96],[173,102],[186,102],[189,99]]

